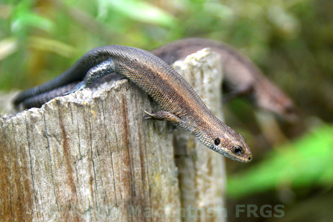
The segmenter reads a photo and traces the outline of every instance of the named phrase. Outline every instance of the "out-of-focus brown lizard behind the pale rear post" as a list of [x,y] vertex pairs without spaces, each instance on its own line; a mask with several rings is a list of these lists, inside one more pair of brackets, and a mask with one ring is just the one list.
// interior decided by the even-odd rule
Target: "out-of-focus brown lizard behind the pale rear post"
[[210,48],[221,56],[223,84],[229,91],[223,95],[224,101],[236,96],[246,96],[257,107],[273,112],[284,120],[294,121],[297,118],[292,100],[269,81],[246,55],[225,43],[188,38],[168,43],[152,53],[172,64],[203,48]]

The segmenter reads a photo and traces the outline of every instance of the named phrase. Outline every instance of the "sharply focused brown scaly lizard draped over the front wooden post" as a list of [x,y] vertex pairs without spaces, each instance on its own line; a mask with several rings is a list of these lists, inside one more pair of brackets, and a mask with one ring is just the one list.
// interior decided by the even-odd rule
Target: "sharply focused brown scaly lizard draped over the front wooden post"
[[252,159],[245,139],[217,119],[183,77],[159,57],[137,48],[114,45],[90,50],[59,77],[22,92],[15,103],[85,76],[71,92],[81,90],[111,72],[130,79],[161,105],[163,110],[157,113],[145,111],[147,119],[167,120],[186,129],[209,149],[233,160]]

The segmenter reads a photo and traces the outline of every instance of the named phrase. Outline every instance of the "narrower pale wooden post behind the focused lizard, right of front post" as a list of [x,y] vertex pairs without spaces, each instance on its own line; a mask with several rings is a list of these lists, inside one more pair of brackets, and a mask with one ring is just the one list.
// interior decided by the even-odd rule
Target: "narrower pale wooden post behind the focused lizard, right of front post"
[[[203,49],[184,61],[175,62],[173,67],[189,82],[208,109],[223,120],[223,67],[219,59],[210,50]],[[183,163],[182,169],[178,169],[181,205],[193,208],[191,212],[186,211],[183,221],[224,221],[225,163],[222,155],[216,155],[186,131],[175,131],[175,156]]]

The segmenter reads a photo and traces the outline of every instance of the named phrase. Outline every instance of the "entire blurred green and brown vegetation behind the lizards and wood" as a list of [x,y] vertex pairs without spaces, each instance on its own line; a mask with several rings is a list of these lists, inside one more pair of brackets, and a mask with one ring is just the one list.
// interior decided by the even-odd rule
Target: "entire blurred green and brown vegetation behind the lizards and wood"
[[[228,220],[236,204],[284,205],[282,218],[333,219],[333,2],[331,0],[1,0],[0,91],[49,80],[88,50],[152,50],[184,37],[224,41],[248,55],[298,107],[286,123],[241,98],[226,123],[253,161],[227,162]],[[273,210],[274,213],[274,210]]]

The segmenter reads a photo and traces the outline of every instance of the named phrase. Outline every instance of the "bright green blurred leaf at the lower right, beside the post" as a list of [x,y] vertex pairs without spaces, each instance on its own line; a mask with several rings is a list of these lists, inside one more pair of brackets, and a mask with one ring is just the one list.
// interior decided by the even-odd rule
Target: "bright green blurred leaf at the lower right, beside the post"
[[[231,175],[227,194],[233,198],[276,188],[333,187],[333,126],[322,126],[277,147],[259,164]],[[246,184],[235,189],[238,184]]]

